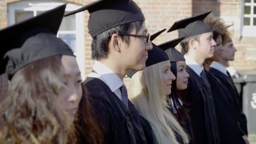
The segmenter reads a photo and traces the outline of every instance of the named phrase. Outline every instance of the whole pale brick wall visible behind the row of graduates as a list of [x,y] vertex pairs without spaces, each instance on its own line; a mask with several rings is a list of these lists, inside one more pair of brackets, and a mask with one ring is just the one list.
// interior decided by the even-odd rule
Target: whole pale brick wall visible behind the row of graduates
[[[7,4],[19,0],[0,0],[0,29],[7,26]],[[69,3],[85,5],[96,0],[65,0]],[[240,0],[134,0],[142,9],[149,32],[153,34],[161,29],[168,29],[180,19],[197,15],[209,10],[214,10],[216,16],[220,16],[227,21],[227,24],[234,23],[230,31],[234,36],[235,46],[238,51],[235,61],[230,63],[237,69],[256,69],[256,61],[251,58],[256,57],[256,52],[252,48],[256,44],[254,37],[240,37]],[[84,12],[84,37],[85,37],[85,75],[91,72],[94,61],[91,59],[91,36],[88,34],[87,22],[88,11]],[[177,37],[177,32],[163,33],[154,40],[155,44],[160,44]],[[178,47],[179,49],[179,47]],[[248,58],[249,57],[249,58]],[[6,78],[6,77],[4,77]],[[125,79],[129,85],[129,79]]]

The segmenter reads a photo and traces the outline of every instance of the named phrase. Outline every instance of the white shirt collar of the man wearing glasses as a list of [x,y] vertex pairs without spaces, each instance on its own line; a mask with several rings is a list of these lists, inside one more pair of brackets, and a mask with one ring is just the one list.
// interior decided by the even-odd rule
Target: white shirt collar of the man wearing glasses
[[100,75],[102,80],[104,80],[104,82],[109,86],[112,92],[116,91],[124,84],[120,77],[115,74],[115,72],[113,72],[111,69],[109,69],[109,67],[99,61],[95,61],[93,65],[93,70],[98,75]]

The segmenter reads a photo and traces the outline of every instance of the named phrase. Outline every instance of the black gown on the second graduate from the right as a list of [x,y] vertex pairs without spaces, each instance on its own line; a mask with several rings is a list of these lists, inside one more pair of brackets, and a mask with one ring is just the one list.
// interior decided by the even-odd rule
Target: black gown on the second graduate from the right
[[207,71],[205,74],[211,84],[221,144],[244,144],[229,91],[214,75]]

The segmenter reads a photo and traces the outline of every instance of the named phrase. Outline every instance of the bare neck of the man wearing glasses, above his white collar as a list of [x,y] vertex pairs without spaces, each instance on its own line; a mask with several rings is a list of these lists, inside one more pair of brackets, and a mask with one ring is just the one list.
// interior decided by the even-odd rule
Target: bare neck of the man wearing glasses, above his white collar
[[117,74],[121,80],[123,80],[127,73],[127,70],[124,67],[120,66],[116,61],[112,61],[111,59],[101,59],[99,62],[115,72],[115,74]]

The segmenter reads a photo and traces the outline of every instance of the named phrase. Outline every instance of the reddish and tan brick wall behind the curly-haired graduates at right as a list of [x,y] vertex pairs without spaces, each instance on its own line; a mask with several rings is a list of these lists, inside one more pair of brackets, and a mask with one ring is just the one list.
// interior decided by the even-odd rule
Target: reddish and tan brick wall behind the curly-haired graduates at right
[[256,69],[256,37],[241,36],[241,12],[242,0],[192,0],[193,15],[197,15],[209,10],[214,10],[215,16],[220,16],[227,25],[234,24],[229,28],[237,52],[235,61],[229,63],[230,66],[238,70]]

